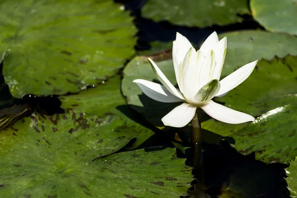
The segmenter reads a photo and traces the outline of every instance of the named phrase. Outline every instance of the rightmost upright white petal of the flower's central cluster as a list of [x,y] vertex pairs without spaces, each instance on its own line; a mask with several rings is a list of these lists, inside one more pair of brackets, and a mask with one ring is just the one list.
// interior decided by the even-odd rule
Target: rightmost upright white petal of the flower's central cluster
[[220,80],[223,64],[225,61],[226,55],[226,48],[227,48],[227,39],[224,37],[217,43],[216,47],[213,49],[215,54],[215,67],[212,72],[212,79]]

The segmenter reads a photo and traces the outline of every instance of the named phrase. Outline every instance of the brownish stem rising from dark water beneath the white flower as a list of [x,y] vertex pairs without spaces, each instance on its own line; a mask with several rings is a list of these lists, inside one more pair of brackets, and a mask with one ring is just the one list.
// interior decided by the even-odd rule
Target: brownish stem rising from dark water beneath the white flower
[[192,154],[193,167],[198,167],[201,158],[201,109],[197,108],[196,113],[192,119]]

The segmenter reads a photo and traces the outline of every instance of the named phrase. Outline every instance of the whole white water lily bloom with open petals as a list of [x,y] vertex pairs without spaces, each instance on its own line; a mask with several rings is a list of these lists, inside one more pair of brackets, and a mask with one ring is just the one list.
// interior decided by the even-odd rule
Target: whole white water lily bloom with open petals
[[251,74],[257,60],[250,62],[219,81],[226,55],[226,37],[219,41],[213,32],[196,51],[189,40],[176,34],[172,58],[179,89],[176,89],[158,66],[148,58],[151,67],[162,85],[143,79],[134,80],[149,98],[160,102],[184,102],[162,118],[164,125],[183,127],[202,108],[212,118],[231,124],[254,121],[254,117],[228,108],[211,100],[225,96]]

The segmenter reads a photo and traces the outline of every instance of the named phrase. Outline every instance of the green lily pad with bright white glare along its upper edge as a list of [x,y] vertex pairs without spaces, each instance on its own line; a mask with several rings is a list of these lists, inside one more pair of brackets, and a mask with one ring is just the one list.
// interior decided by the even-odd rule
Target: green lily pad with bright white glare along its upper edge
[[297,105],[280,106],[226,139],[243,154],[255,151],[257,160],[289,163],[297,155],[296,111]]

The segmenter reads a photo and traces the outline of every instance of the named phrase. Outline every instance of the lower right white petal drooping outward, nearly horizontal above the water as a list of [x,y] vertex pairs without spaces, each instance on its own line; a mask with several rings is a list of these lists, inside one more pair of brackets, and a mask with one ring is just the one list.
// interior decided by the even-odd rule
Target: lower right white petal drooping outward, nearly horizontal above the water
[[205,106],[201,107],[210,117],[226,122],[229,124],[240,124],[244,122],[254,121],[255,118],[246,113],[233,110],[212,100],[205,102]]

